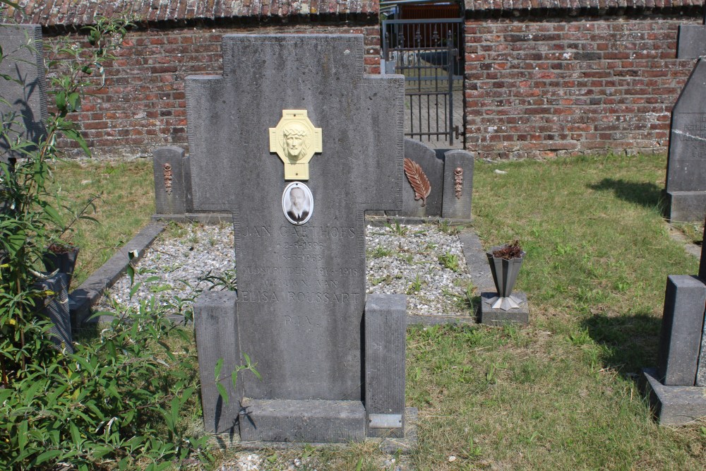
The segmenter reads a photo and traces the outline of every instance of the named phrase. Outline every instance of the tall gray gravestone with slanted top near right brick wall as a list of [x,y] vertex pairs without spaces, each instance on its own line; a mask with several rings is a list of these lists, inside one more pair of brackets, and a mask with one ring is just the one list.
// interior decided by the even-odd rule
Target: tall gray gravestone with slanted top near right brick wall
[[706,215],[706,62],[699,59],[671,112],[666,194],[669,219]]

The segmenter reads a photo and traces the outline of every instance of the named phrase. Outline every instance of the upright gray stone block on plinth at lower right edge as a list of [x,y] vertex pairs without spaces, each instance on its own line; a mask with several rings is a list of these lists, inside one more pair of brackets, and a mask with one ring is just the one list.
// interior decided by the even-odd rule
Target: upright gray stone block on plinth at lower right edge
[[694,386],[705,306],[706,285],[697,277],[667,277],[657,356],[658,378],[665,386]]

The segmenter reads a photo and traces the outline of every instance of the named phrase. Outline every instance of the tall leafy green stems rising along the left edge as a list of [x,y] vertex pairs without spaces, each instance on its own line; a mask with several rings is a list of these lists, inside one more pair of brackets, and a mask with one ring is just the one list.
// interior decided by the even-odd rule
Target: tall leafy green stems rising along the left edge
[[[7,2],[3,2],[7,3]],[[105,61],[114,58],[130,25],[125,20],[100,18],[85,28],[90,47],[78,42],[57,40],[49,51],[47,66],[52,111],[44,124],[45,133],[36,142],[16,129],[23,129],[21,117],[6,114],[0,138],[8,151],[0,158],[0,384],[8,387],[23,377],[28,358],[42,362],[54,354],[47,348],[47,335],[37,316],[40,299],[48,292],[37,289],[42,275],[37,270],[50,242],[66,230],[58,208],[61,201],[47,192],[52,179],[52,163],[60,156],[59,139],[65,138],[90,150],[71,114],[80,109],[89,88],[104,84]],[[28,42],[25,47],[35,47]],[[0,61],[13,60],[0,49]],[[13,80],[2,76],[1,80]],[[9,105],[5,97],[0,97]]]

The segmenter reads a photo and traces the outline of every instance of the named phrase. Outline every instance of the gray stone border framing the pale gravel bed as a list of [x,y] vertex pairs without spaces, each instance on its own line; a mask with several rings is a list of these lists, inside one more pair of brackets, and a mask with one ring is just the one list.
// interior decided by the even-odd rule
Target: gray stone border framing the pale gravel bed
[[[386,222],[400,222],[400,224],[425,224],[433,223],[443,219],[439,217],[384,217],[366,216],[366,223],[375,227],[383,227]],[[448,219],[445,219],[448,220]],[[152,242],[167,227],[166,222],[201,222],[205,225],[218,224],[219,222],[231,222],[232,217],[225,213],[194,213],[186,215],[166,215],[152,216],[152,222],[145,226],[133,239],[125,244],[117,253],[112,256],[100,268],[95,270],[79,287],[71,291],[69,296],[69,309],[71,311],[71,326],[79,329],[95,323],[108,323],[112,321],[112,316],[98,316],[91,318],[91,306],[96,304],[103,293],[125,273],[130,252],[136,252],[133,263],[140,261],[145,251],[150,248]],[[448,220],[451,225],[469,225],[471,220]],[[493,279],[491,278],[490,267],[481,246],[480,239],[471,227],[464,227],[458,234],[461,242],[463,256],[466,259],[466,266],[471,275],[473,285],[479,292],[495,290]],[[438,324],[475,324],[479,323],[479,312],[472,316],[445,316],[434,314],[429,316],[419,314],[407,314],[407,325],[421,324],[424,326],[436,326]]]

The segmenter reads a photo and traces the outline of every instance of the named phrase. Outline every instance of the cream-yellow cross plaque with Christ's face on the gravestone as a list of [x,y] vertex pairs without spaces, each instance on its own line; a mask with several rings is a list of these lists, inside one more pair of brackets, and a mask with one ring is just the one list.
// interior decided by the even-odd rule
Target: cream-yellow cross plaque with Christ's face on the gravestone
[[308,180],[309,160],[323,151],[321,128],[306,116],[306,109],[283,109],[277,126],[270,128],[270,152],[285,164],[285,180]]

